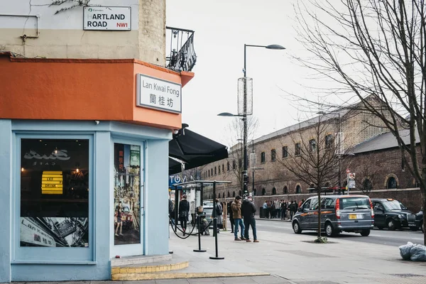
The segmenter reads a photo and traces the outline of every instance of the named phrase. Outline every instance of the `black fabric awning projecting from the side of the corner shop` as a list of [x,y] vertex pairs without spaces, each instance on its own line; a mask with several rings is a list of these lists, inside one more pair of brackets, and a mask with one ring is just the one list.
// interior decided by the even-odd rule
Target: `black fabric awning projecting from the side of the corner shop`
[[[169,142],[169,156],[182,160],[185,170],[228,158],[226,146],[188,129],[180,129]],[[169,175],[180,173],[181,164],[169,158]]]

